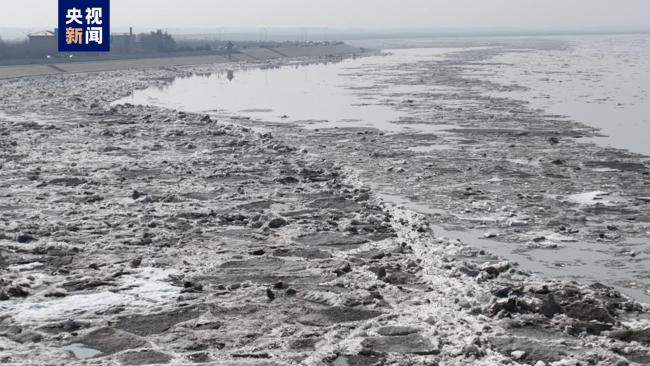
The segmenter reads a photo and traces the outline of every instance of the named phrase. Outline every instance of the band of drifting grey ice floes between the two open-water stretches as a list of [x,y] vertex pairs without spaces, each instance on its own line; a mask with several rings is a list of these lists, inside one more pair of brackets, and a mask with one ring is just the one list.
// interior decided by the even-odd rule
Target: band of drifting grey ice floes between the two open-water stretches
[[493,59],[512,52],[524,50],[346,70],[349,88],[375,83],[357,95],[400,112],[393,125],[401,130],[339,123],[307,138],[283,130],[337,156],[387,200],[434,216],[444,236],[550,278],[605,282],[650,302],[648,158],[594,144],[593,127],[495,96],[524,88],[476,74],[508,67]]

